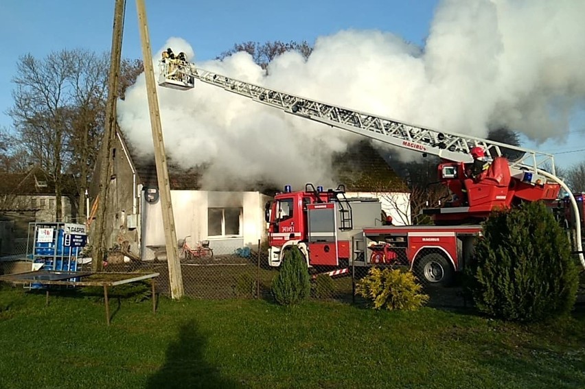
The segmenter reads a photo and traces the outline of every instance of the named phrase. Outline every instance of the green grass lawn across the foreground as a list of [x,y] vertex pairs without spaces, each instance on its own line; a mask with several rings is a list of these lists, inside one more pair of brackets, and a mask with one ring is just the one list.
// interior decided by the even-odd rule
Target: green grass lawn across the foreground
[[471,310],[0,290],[0,388],[585,388],[585,307],[547,325]]

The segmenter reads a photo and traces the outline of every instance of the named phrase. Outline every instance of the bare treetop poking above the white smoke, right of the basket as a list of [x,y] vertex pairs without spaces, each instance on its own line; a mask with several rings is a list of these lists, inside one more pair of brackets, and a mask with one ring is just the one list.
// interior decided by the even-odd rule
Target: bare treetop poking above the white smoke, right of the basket
[[233,47],[228,50],[222,52],[219,56],[216,57],[218,60],[223,60],[226,57],[231,56],[231,54],[236,54],[239,51],[246,51],[246,53],[250,54],[254,60],[254,62],[262,69],[267,69],[268,64],[277,56],[286,53],[287,51],[298,51],[303,58],[307,59],[311,55],[313,48],[309,45],[306,40],[302,42],[288,42],[283,43],[280,40],[275,40],[274,42],[266,42],[266,43],[258,43],[258,42],[244,42],[244,43],[236,43]]

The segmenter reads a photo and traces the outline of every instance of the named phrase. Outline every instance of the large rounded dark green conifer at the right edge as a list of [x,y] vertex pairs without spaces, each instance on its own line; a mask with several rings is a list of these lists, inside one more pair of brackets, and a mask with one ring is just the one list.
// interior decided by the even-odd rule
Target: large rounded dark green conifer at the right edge
[[489,316],[534,322],[567,314],[575,303],[569,239],[542,202],[493,213],[468,275],[468,292]]

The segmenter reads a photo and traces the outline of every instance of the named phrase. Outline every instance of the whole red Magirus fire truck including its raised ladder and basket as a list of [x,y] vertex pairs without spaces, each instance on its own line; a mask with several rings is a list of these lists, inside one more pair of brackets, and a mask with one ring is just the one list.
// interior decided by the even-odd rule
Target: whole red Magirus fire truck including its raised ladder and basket
[[[555,200],[561,187],[569,191],[554,175],[551,154],[290,95],[198,69],[186,61],[159,62],[161,86],[192,89],[195,79],[290,115],[441,158],[439,178],[450,189],[452,199],[444,207],[425,210],[433,217],[434,226],[383,226],[380,202],[346,198],[343,185],[327,190],[311,184],[295,191],[286,187],[266,205],[270,266],[279,266],[284,252],[297,246],[308,266],[334,268],[335,274],[347,266],[398,263],[411,266],[426,283],[448,283],[472,255],[474,241],[482,231],[479,222],[492,210],[522,201]],[[470,152],[477,148],[490,165],[472,177],[468,175],[474,163]],[[508,160],[503,150],[514,150],[518,158]],[[582,263],[585,266],[583,258]]]

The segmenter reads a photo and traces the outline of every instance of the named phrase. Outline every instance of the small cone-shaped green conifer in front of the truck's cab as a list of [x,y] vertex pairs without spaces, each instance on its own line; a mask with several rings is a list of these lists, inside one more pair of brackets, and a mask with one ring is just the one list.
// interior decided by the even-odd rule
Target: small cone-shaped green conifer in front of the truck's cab
[[272,281],[272,294],[281,305],[301,303],[311,291],[307,261],[297,246],[287,249],[280,265],[280,272]]

